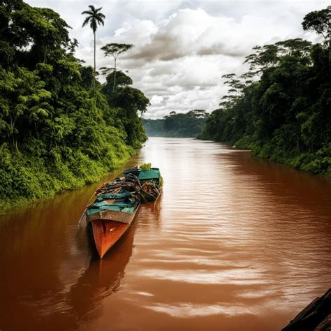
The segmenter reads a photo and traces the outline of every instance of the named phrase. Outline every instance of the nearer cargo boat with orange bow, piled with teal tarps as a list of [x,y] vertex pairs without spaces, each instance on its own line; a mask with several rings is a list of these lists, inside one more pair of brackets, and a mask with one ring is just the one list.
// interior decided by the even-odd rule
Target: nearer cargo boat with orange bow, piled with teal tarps
[[139,182],[124,177],[103,184],[87,207],[86,221],[100,258],[131,225],[140,207]]

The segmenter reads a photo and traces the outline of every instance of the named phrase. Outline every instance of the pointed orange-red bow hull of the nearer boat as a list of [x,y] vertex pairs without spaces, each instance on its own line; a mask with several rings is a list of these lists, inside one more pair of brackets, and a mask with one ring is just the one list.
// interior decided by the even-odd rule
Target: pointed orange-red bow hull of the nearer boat
[[112,247],[117,240],[125,233],[130,224],[108,219],[96,219],[91,221],[91,228],[96,244],[96,250],[100,258]]

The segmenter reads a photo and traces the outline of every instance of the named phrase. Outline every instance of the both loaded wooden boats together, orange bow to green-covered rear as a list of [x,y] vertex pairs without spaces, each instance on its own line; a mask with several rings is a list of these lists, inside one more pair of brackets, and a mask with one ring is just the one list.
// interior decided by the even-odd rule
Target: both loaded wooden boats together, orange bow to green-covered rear
[[106,182],[95,192],[96,200],[85,211],[87,226],[100,258],[126,232],[141,202],[159,198],[163,179],[158,168],[130,168],[124,177]]

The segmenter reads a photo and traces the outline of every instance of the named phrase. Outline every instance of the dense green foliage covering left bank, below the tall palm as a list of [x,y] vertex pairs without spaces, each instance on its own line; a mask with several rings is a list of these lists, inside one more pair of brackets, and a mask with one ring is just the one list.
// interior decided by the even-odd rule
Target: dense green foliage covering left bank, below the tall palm
[[148,99],[93,89],[68,29],[53,10],[0,1],[0,211],[94,182],[146,140]]

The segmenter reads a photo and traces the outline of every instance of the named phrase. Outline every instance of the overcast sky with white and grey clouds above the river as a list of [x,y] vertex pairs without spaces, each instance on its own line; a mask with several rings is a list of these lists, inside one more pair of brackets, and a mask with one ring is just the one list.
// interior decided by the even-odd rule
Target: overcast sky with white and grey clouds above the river
[[113,67],[100,47],[132,43],[117,66],[133,79],[133,87],[149,98],[146,118],[170,111],[216,109],[226,93],[221,75],[242,73],[244,57],[255,45],[287,38],[316,36],[302,30],[304,15],[329,1],[71,1],[27,0],[31,6],[52,8],[73,28],[80,43],[77,57],[93,65],[93,34],[82,28],[80,15],[90,4],[103,7],[105,26],[96,34],[96,66]]

